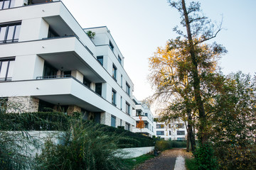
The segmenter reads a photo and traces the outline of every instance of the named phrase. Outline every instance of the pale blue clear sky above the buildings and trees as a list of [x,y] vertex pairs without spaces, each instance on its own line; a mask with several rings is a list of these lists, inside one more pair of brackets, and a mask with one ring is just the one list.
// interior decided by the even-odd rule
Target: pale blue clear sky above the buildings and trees
[[[166,0],[63,0],[83,28],[107,26],[124,55],[124,68],[134,82],[134,96],[142,100],[152,94],[146,77],[148,58],[156,47],[176,38],[172,31],[179,14]],[[215,41],[228,54],[220,60],[223,72],[256,72],[256,0],[201,0],[203,13],[223,28]]]

